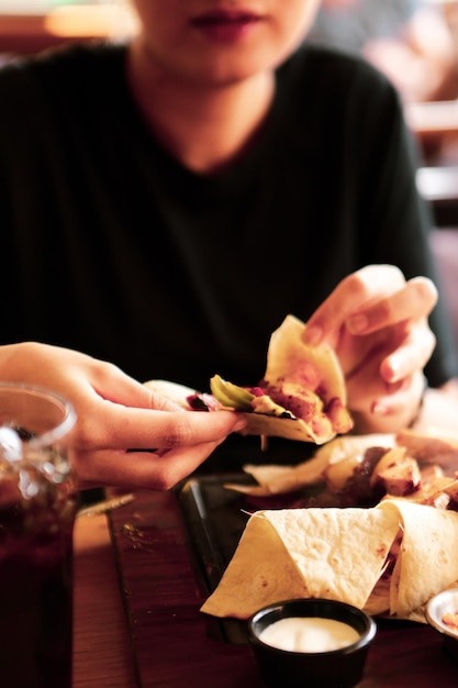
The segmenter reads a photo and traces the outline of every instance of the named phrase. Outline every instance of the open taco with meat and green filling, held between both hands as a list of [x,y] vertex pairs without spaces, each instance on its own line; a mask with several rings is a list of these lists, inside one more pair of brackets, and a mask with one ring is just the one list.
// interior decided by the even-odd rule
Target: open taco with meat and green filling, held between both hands
[[288,315],[272,333],[258,385],[239,387],[219,375],[210,380],[212,395],[223,408],[246,413],[245,434],[323,444],[351,430],[338,358],[327,344],[304,344],[304,328]]

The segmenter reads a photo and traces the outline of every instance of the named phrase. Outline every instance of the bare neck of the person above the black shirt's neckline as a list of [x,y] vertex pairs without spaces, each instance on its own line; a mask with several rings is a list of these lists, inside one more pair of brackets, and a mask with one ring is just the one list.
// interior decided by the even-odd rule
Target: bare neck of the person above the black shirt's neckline
[[273,98],[271,74],[224,87],[204,87],[145,67],[132,46],[129,80],[148,125],[182,165],[211,174],[243,155]]

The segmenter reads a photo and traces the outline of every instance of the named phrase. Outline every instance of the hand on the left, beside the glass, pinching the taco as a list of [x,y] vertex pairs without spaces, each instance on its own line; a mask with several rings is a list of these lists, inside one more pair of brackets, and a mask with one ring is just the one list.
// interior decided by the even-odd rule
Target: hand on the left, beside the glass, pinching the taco
[[232,411],[187,412],[112,364],[46,344],[1,346],[0,379],[44,387],[72,403],[69,457],[80,488],[168,489],[244,426]]

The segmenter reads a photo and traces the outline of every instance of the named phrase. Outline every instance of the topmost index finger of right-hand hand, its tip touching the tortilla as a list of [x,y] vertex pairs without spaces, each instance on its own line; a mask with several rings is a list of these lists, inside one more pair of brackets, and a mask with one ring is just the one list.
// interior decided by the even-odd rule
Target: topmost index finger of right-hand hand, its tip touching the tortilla
[[336,346],[339,329],[351,313],[404,285],[403,274],[393,265],[368,265],[348,275],[309,319],[304,342],[315,345],[326,341]]

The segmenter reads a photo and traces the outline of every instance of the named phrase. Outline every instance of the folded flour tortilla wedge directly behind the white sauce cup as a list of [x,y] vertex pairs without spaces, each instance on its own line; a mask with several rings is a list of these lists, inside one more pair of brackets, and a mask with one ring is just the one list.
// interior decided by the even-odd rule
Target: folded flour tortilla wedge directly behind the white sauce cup
[[395,512],[375,509],[256,512],[201,611],[247,619],[265,604],[293,597],[362,608],[398,529]]

